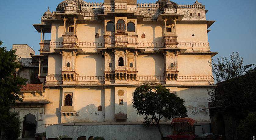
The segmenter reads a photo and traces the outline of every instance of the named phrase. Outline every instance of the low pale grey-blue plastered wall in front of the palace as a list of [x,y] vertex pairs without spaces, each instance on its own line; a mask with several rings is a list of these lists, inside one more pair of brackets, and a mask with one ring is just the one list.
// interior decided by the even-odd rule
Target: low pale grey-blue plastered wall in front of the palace
[[[161,124],[163,135],[171,135],[172,127]],[[54,138],[66,134],[73,139],[79,136],[103,136],[105,140],[161,140],[158,128],[143,124],[120,125],[51,125],[46,128],[46,137]]]

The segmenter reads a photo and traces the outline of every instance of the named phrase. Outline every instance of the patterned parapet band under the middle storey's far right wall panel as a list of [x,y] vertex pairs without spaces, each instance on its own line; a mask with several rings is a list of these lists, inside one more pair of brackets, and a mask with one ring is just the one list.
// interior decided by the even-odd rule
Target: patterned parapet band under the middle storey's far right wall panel
[[177,81],[213,81],[211,75],[178,76]]

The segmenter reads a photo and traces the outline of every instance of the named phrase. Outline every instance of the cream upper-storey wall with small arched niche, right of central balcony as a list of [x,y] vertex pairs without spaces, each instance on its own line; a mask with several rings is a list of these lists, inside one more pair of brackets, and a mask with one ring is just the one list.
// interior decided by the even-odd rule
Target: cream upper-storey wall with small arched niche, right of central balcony
[[[146,38],[141,38],[144,33]],[[164,28],[163,24],[158,21],[137,22],[137,42],[162,42]]]

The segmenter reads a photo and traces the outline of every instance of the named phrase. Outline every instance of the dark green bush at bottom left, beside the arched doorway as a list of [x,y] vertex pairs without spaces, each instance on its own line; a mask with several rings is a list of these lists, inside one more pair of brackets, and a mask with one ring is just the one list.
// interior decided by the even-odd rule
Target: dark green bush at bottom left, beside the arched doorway
[[8,118],[5,118],[5,125],[2,125],[2,129],[4,130],[4,138],[6,140],[17,140],[20,137],[20,118],[19,113],[9,113]]

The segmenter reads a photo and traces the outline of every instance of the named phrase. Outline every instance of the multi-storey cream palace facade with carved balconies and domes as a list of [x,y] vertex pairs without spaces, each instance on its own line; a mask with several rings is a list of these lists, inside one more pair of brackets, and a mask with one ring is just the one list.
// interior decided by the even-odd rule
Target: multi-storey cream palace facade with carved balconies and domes
[[214,82],[208,61],[217,53],[210,51],[208,28],[214,21],[206,19],[207,12],[197,1],[169,0],[65,0],[55,12],[48,8],[33,25],[41,41],[40,55],[31,57],[43,84],[24,87],[24,102],[14,110],[21,120],[36,117],[36,133],[62,123],[139,124],[144,117],[132,107],[132,93],[149,83],[170,89],[185,100],[188,117],[209,124],[203,110]]

